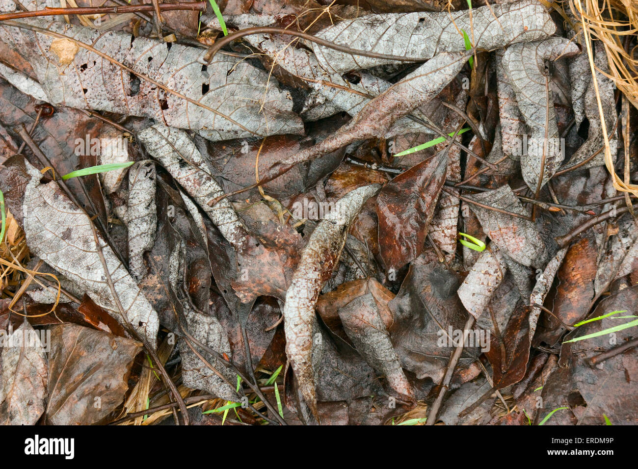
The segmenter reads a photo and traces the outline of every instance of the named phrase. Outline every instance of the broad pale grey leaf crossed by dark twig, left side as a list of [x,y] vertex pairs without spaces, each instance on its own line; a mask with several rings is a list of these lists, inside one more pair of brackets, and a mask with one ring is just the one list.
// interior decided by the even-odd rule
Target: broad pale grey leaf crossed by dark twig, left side
[[[157,341],[158,315],[137,283],[98,233],[96,245],[87,214],[60,190],[56,182],[41,184],[41,174],[26,160],[31,175],[24,192],[24,232],[31,252],[84,290],[94,302],[126,327],[127,323],[154,346]],[[124,309],[122,318],[107,283],[100,260],[101,249],[108,274]]]

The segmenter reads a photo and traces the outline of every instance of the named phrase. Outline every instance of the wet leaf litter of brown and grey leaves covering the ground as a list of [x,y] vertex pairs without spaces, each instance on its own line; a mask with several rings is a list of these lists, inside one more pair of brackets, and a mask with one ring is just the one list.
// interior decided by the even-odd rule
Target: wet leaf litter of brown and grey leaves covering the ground
[[423,4],[0,20],[0,422],[635,424],[605,36]]

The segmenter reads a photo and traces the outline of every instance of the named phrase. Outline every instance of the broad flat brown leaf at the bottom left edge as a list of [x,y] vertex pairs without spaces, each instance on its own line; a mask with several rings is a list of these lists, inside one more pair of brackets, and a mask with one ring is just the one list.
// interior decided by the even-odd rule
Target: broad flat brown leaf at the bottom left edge
[[47,423],[89,425],[107,417],[124,401],[141,346],[76,324],[52,326]]

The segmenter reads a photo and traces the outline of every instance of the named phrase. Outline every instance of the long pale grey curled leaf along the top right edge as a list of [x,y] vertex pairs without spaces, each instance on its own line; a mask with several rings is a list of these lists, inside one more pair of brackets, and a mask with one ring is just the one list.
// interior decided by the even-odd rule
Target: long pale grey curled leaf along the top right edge
[[[492,50],[510,43],[535,41],[554,34],[556,26],[535,0],[494,4],[464,11],[385,13],[343,20],[317,34],[322,39],[359,50],[427,60],[440,52],[465,50],[461,29],[473,31],[475,47]],[[341,73],[392,63],[352,56],[313,44],[325,70]]]

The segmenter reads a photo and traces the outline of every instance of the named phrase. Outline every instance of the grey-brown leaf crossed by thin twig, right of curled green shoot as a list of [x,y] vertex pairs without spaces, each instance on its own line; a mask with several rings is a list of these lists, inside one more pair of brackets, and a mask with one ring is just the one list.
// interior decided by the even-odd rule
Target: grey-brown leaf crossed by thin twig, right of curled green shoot
[[[514,192],[505,184],[498,189],[470,196],[480,204],[529,216]],[[530,220],[470,204],[489,238],[509,257],[526,266],[540,265],[546,257],[545,244]]]

